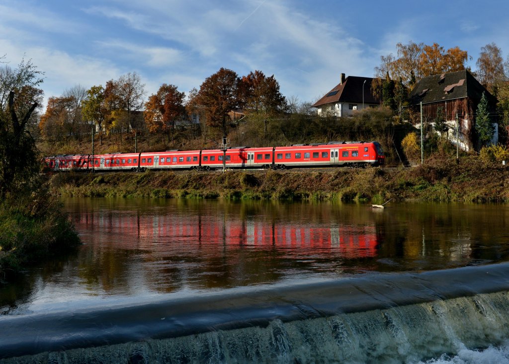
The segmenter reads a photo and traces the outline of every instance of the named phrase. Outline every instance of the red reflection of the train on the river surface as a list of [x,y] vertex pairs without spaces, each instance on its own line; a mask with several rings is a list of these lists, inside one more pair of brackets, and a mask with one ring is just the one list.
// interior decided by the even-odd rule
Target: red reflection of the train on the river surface
[[[99,220],[99,221],[97,221]],[[190,247],[252,247],[296,252],[335,253],[343,258],[374,257],[378,240],[374,224],[295,225],[257,217],[223,219],[218,216],[132,215],[85,213],[76,221],[103,229],[104,236],[122,234],[123,248],[157,249],[157,245]],[[163,248],[164,249],[164,248]]]

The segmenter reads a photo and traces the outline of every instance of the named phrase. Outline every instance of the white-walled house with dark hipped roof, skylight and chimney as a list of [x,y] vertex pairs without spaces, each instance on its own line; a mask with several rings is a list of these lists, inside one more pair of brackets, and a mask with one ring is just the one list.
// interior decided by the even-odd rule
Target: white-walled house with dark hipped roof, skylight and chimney
[[318,114],[334,116],[352,116],[356,110],[377,107],[380,100],[371,92],[373,78],[341,74],[340,83],[332,88],[313,107]]

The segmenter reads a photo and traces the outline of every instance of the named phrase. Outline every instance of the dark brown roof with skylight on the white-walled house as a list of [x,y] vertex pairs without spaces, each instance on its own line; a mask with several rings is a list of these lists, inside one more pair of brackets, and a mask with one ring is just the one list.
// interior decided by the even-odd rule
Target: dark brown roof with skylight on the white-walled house
[[313,107],[336,103],[336,102],[354,102],[362,103],[362,84],[364,84],[364,103],[380,104],[380,100],[376,99],[371,93],[371,83],[373,78],[348,76],[343,83],[336,85],[324,97],[318,100]]

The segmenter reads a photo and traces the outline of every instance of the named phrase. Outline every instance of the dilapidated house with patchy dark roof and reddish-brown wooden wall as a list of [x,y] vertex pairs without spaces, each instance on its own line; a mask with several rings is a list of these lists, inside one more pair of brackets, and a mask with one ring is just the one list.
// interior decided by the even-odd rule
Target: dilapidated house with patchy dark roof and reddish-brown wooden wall
[[[454,130],[458,116],[459,137],[464,142],[462,147],[468,149],[475,145],[475,113],[483,92],[486,93],[490,109],[495,110],[496,98],[469,71],[428,76],[422,78],[410,92],[410,108],[420,113],[422,102],[423,121],[433,123],[441,113]],[[456,136],[455,131],[453,136]],[[497,135],[494,139],[496,143]]]

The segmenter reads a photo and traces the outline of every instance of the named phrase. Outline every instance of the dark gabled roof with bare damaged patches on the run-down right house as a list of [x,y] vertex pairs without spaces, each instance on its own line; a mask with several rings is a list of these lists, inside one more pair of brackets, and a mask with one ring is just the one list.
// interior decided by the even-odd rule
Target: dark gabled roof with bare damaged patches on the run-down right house
[[494,97],[467,70],[442,73],[421,79],[410,92],[411,105],[422,102],[430,104],[448,100],[470,98],[479,101],[486,92],[488,99]]

